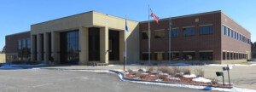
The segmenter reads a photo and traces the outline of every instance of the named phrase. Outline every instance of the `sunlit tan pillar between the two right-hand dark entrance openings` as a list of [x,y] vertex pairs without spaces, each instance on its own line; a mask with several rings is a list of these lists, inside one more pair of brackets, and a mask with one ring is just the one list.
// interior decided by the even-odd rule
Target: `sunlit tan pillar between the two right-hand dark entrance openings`
[[100,28],[100,58],[108,64],[108,26]]

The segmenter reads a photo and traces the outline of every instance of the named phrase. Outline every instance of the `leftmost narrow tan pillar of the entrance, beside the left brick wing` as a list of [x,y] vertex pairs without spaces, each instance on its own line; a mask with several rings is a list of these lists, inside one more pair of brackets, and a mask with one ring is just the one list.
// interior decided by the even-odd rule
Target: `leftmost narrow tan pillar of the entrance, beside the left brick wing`
[[35,61],[35,57],[36,57],[36,51],[35,51],[35,40],[36,38],[34,37],[34,35],[31,35],[31,60]]

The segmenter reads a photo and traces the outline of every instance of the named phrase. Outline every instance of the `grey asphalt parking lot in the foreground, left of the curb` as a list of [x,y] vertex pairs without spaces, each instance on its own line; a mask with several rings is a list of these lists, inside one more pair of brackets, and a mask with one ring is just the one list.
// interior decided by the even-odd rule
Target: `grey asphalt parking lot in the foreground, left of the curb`
[[0,70],[3,92],[198,92],[200,89],[120,81],[116,74],[60,70]]

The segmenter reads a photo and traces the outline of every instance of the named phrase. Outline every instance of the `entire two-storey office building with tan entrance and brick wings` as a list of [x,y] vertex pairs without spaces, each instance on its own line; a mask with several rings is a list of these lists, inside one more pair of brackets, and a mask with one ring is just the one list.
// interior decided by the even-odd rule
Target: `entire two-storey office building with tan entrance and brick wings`
[[[150,20],[153,63],[167,63],[169,54],[172,63],[223,64],[250,59],[251,33],[222,11],[172,17],[171,52],[169,23],[168,18],[160,19],[159,24]],[[31,32],[6,36],[7,59],[31,57],[49,63],[52,57],[60,64],[119,64],[124,62],[126,40],[127,63],[148,63],[148,21],[127,20],[127,24],[127,37],[125,19],[95,11],[34,24]]]

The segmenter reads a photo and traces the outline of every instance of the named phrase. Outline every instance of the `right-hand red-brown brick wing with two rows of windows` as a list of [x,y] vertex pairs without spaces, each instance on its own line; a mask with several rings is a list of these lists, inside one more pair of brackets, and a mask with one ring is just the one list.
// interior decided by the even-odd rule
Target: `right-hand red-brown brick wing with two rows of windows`
[[[150,21],[151,60],[169,60],[169,22]],[[222,11],[172,17],[172,63],[239,63],[251,55],[251,33]],[[140,22],[140,59],[148,62],[148,21]]]

